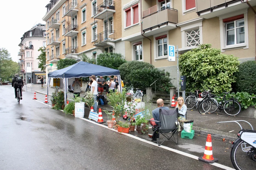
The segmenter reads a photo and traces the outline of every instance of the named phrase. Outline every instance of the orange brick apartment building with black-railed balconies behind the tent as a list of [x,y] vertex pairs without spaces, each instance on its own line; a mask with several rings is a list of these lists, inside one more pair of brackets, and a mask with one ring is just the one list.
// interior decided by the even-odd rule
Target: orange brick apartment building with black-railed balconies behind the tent
[[46,8],[46,75],[58,69],[59,59],[79,61],[84,53],[94,59],[103,52],[125,55],[121,1],[51,0]]

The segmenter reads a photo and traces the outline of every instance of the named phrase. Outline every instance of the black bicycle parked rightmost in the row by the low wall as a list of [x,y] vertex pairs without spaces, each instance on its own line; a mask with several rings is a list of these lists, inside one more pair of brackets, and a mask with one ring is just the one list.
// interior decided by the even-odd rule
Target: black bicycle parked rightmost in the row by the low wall
[[[235,98],[229,98],[229,100],[226,100],[225,97],[226,95],[228,94],[227,92],[223,92],[224,93],[224,96],[223,97],[218,97],[218,96],[213,96],[211,95],[212,97],[217,97],[217,98],[221,98],[222,101],[220,101],[220,103],[218,104],[217,100],[212,100],[212,98],[210,98],[209,96],[206,98],[205,101],[203,101],[199,108],[202,108],[202,109],[198,109],[199,113],[200,114],[204,114],[206,112],[208,112],[210,110],[210,108],[208,110],[206,110],[209,106],[209,102],[211,103],[211,106],[214,105],[214,107],[216,107],[216,110],[219,109],[220,111],[221,110],[224,110],[224,112],[230,116],[235,116],[237,114],[239,114],[239,112],[241,111],[241,104],[235,100]],[[224,104],[223,104],[224,103]],[[204,106],[204,104],[207,104],[206,106]],[[223,106],[222,106],[223,104]],[[210,107],[211,107],[210,106]],[[215,109],[215,108],[214,108]],[[215,110],[215,111],[216,111]],[[200,112],[202,111],[202,112]],[[215,112],[214,111],[214,112]],[[209,112],[209,113],[213,113],[213,112]]]

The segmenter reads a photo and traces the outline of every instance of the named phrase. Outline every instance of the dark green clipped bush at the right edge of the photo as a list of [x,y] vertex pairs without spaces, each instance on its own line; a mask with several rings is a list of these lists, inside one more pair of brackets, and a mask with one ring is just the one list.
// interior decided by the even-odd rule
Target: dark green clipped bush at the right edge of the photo
[[236,91],[256,94],[256,61],[247,61],[239,65],[236,73]]

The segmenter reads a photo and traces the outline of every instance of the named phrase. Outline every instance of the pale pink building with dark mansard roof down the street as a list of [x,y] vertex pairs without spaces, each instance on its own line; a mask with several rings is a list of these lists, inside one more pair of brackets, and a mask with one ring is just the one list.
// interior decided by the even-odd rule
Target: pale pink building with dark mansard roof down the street
[[[45,36],[45,24],[37,24],[21,37],[18,63],[20,65],[20,74],[28,83],[40,84],[39,76],[45,77],[45,72],[42,72],[41,69],[38,68],[39,60],[37,59],[41,53],[38,49],[46,46]],[[27,67],[31,67],[32,77],[26,78]]]

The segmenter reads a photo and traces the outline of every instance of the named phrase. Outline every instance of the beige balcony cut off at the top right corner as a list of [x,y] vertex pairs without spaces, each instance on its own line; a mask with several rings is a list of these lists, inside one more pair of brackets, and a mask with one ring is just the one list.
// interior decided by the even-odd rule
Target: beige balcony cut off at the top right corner
[[[241,0],[196,0],[195,7],[197,15],[202,18],[213,18],[236,10],[248,8],[248,5]],[[249,0],[252,6],[256,5],[255,0]]]

